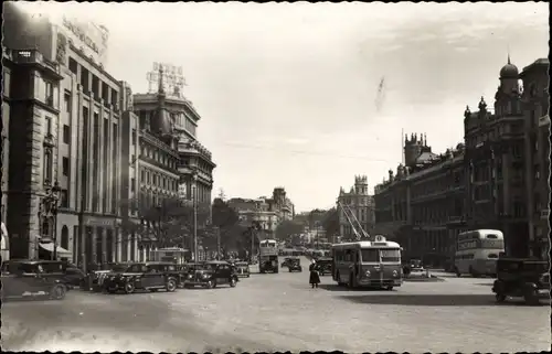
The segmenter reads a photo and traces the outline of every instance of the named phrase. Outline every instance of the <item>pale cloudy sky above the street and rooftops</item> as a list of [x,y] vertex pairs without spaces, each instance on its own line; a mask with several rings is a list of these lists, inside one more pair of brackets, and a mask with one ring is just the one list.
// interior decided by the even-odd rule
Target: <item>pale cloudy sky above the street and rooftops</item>
[[520,71],[549,53],[545,2],[35,7],[104,24],[105,68],[134,93],[153,62],[182,66],[213,196],[284,186],[297,212],[333,206],[354,175],[373,191],[402,161],[402,130],[456,147],[466,106],[492,107],[508,53]]

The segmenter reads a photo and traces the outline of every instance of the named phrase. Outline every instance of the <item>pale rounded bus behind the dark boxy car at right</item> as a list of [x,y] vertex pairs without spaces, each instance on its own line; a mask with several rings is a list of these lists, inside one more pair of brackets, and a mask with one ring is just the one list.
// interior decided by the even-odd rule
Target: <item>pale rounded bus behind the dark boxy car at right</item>
[[505,251],[505,235],[498,229],[476,229],[458,235],[454,256],[457,277],[469,273],[495,276],[497,259]]

